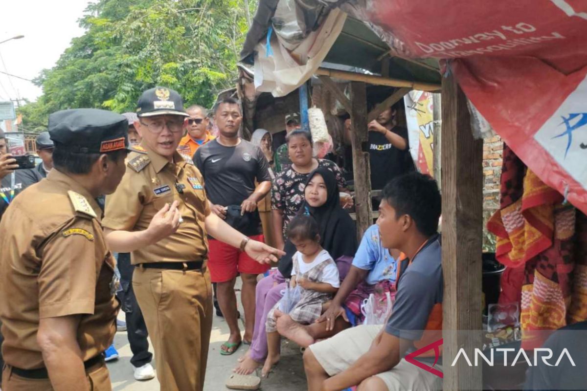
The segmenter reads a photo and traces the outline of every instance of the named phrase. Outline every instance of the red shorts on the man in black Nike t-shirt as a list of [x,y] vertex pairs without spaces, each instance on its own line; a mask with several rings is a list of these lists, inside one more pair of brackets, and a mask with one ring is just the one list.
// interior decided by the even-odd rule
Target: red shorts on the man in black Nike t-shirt
[[[250,236],[252,240],[264,242],[263,235]],[[261,264],[245,253],[220,240],[208,240],[208,268],[212,283],[224,283],[237,277],[238,273],[261,274],[269,270],[270,265]]]

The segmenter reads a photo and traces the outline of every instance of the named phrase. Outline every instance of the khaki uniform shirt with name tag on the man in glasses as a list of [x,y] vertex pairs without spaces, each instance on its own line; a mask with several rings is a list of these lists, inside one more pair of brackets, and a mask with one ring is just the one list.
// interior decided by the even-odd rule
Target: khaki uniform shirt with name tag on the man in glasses
[[[175,164],[144,144],[134,148],[122,182],[106,197],[103,225],[112,230],[142,231],[153,216],[174,200],[184,220],[176,233],[150,246],[133,251],[131,263],[203,260],[208,253],[204,219],[210,206],[200,171],[177,152]],[[177,184],[177,185],[176,185]],[[177,186],[183,186],[183,194]]]

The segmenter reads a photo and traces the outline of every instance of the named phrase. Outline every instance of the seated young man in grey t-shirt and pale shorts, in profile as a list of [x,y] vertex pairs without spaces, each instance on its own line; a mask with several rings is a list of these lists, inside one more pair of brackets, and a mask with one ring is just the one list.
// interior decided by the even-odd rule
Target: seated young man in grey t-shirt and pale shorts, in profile
[[408,257],[401,267],[392,315],[384,327],[353,327],[306,349],[309,391],[355,385],[369,391],[442,387],[441,378],[433,373],[440,373],[437,363],[429,372],[402,358],[441,338],[443,274],[436,233],[440,193],[434,179],[414,172],[393,179],[382,196],[377,225],[383,247]]

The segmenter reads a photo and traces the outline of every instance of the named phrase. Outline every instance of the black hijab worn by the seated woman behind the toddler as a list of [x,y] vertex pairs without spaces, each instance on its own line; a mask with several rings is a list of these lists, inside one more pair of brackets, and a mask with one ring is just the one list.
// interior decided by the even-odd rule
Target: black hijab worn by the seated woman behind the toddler
[[[342,256],[354,257],[357,250],[356,227],[349,213],[340,206],[336,177],[328,168],[318,167],[308,176],[306,186],[316,174],[321,175],[324,179],[326,202],[318,208],[312,208],[307,201],[304,201],[298,215],[309,214],[314,217],[320,229],[320,243],[333,260],[336,261]],[[279,260],[278,269],[285,278],[290,278],[292,257],[296,248],[293,243],[287,240],[284,251],[285,255]]]

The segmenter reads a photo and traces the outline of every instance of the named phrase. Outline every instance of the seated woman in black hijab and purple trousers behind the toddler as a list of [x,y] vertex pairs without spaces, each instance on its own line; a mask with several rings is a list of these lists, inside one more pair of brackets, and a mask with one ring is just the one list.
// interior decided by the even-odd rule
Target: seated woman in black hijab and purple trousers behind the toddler
[[[326,194],[324,194],[326,193]],[[355,224],[349,213],[340,206],[340,196],[336,177],[328,168],[315,169],[306,181],[304,191],[305,202],[298,213],[309,214],[320,227],[320,237],[323,249],[330,253],[333,260],[340,257],[353,257],[357,250],[357,234]],[[257,307],[255,308],[255,331],[251,342],[251,349],[243,358],[234,372],[249,375],[265,361],[267,355],[267,334],[265,323],[267,314],[281,299],[281,291],[286,287],[286,279],[291,277],[292,256],[296,252],[295,246],[285,243],[285,256],[278,264],[278,273],[263,278],[257,284]]]

